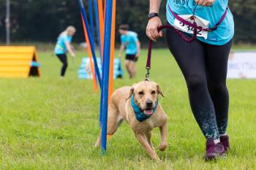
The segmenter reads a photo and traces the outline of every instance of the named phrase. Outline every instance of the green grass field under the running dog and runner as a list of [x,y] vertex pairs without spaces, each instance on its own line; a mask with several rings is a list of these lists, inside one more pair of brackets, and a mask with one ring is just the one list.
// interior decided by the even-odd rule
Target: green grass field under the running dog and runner
[[[168,50],[154,50],[151,80],[162,86],[168,115],[168,148],[148,158],[123,123],[108,141],[108,152],[94,148],[99,134],[99,93],[90,80],[78,80],[86,53],[69,58],[67,77],[51,53],[39,53],[41,78],[0,79],[0,169],[256,169],[256,80],[228,80],[231,150],[216,162],[203,161],[205,139],[189,107],[187,87]],[[115,80],[115,88],[144,80],[146,50],[135,80]],[[124,68],[123,68],[124,69]],[[153,143],[159,144],[155,129]]]

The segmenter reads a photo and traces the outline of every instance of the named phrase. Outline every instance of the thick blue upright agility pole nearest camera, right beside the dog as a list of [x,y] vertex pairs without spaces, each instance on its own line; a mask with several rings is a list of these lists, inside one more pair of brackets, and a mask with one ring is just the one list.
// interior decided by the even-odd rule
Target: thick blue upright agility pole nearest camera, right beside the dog
[[102,72],[102,141],[101,151],[104,154],[107,149],[107,125],[108,125],[108,80],[110,69],[110,40],[111,40],[111,21],[113,1],[106,2],[105,15],[105,36],[103,50],[103,72]]

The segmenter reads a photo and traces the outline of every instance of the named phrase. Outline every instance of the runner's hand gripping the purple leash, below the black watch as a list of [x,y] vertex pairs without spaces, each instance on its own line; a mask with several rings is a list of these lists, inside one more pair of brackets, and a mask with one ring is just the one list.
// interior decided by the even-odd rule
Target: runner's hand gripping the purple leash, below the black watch
[[164,36],[162,31],[158,32],[157,28],[159,26],[162,26],[162,22],[159,17],[150,18],[148,20],[146,35],[148,36],[149,39],[151,39],[154,42],[156,42],[157,39],[159,39],[160,37]]

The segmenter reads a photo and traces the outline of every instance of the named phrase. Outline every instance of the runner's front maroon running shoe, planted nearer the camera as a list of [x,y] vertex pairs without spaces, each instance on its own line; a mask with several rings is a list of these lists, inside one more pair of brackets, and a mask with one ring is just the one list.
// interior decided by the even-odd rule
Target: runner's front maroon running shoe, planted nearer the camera
[[215,158],[222,157],[225,155],[225,149],[222,143],[214,143],[214,139],[210,138],[206,141],[206,161],[212,161]]

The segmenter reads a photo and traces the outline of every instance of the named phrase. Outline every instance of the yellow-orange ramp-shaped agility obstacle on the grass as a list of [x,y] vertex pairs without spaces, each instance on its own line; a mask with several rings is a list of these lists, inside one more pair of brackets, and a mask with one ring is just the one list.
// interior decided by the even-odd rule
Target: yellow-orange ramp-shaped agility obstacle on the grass
[[0,46],[0,77],[29,76],[40,77],[36,48]]

